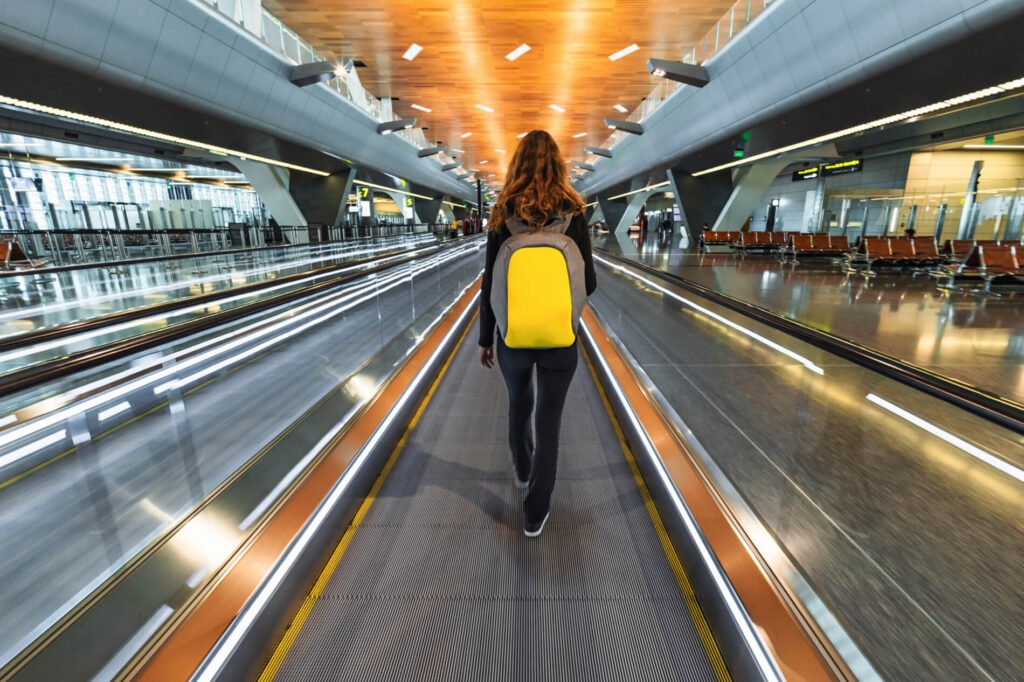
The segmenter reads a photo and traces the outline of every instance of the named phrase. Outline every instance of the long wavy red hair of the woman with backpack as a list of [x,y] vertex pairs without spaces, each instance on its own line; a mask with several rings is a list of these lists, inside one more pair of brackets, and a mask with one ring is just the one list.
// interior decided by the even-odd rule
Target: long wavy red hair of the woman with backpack
[[505,188],[490,209],[489,229],[501,229],[518,217],[540,229],[556,215],[583,213],[584,202],[569,186],[565,160],[546,130],[534,130],[519,141],[505,177]]

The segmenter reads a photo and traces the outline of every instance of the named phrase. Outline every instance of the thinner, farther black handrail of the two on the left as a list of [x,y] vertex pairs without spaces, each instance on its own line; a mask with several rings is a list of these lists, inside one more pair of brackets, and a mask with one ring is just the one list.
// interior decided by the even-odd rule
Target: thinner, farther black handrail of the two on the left
[[[112,312],[110,314],[101,315],[98,317],[90,317],[88,319],[81,319],[79,322],[68,323],[67,325],[59,325],[57,327],[48,327],[44,329],[34,330],[31,332],[25,332],[23,334],[16,334],[14,336],[7,336],[4,338],[0,338],[0,351],[9,350],[11,348],[20,348],[35,343],[42,343],[44,341],[52,341],[54,339],[60,339],[68,336],[73,336],[75,334],[81,334],[82,332],[89,332],[95,329],[101,329],[110,325],[117,325],[120,323],[132,322],[134,319],[141,319],[142,317],[147,317],[150,315],[168,314],[175,310],[190,307],[193,305],[202,305],[204,303],[213,304],[216,303],[218,300],[222,298],[227,298],[229,296],[236,296],[239,294],[248,294],[251,292],[258,292],[261,289],[266,289],[268,287],[275,287],[281,284],[289,284],[291,282],[295,282],[297,280],[301,280],[310,275],[325,274],[333,270],[339,270],[349,267],[357,267],[359,265],[372,263],[381,258],[400,256],[403,254],[413,253],[414,251],[417,250],[428,249],[428,248],[431,247],[429,247],[428,245],[420,245],[418,247],[411,247],[409,249],[398,249],[395,251],[381,253],[376,256],[370,256],[368,258],[350,260],[344,263],[337,263],[335,265],[328,265],[326,267],[305,270],[303,272],[286,274],[283,278],[278,278],[274,280],[254,282],[252,284],[242,285],[241,287],[222,289],[220,291],[210,292],[208,294],[199,294],[197,296],[179,298],[173,301],[165,301],[163,303],[154,303],[152,305],[145,305],[138,308],[131,308],[130,310],[120,310],[118,312]],[[287,263],[283,263],[283,265],[286,264]],[[187,285],[187,282],[182,282],[181,284],[182,286],[185,286]]]

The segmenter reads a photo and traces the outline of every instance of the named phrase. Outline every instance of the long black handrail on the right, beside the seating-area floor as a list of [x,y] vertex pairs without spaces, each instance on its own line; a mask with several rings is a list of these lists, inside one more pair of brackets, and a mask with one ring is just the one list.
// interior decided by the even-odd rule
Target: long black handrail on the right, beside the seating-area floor
[[862,346],[849,339],[823,332],[796,319],[791,319],[754,303],[733,298],[678,274],[666,272],[665,270],[631,260],[604,249],[596,248],[595,250],[611,260],[636,267],[680,289],[696,294],[701,298],[739,312],[773,329],[785,332],[801,341],[810,343],[813,346],[839,355],[868,370],[878,372],[888,379],[899,381],[1016,433],[1024,434],[1024,406],[1018,402],[1008,400],[1000,395],[951,377],[926,370],[912,363],[893,357],[880,350]]

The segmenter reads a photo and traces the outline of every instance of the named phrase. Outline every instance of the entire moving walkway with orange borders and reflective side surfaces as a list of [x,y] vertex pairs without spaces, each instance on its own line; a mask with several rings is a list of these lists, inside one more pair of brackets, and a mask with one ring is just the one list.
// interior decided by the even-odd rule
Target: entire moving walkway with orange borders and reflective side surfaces
[[[991,602],[1017,589],[1014,562],[975,561],[990,539],[1015,537],[1014,435],[600,254],[552,519],[525,539],[500,375],[464,340],[481,245],[319,290],[287,316],[204,330],[161,350],[173,361],[105,370],[129,373],[115,390],[166,373],[140,387],[160,386],[164,402],[129,396],[113,433],[93,420],[122,396],[89,404],[97,436],[78,432],[74,455],[0,487],[11,505],[0,519],[23,524],[10,556],[24,559],[0,595],[17,614],[0,633],[3,676],[997,679],[1018,668],[1016,602]],[[228,346],[230,361],[208,354]],[[75,438],[80,424],[50,427]],[[0,457],[26,446],[3,440],[10,428]],[[982,531],[953,551],[961,518]],[[1018,549],[1002,543],[1011,558]],[[98,567],[89,580],[86,567]],[[950,583],[990,606],[959,603]],[[958,637],[957,617],[980,637]],[[35,629],[10,632],[24,623]]]

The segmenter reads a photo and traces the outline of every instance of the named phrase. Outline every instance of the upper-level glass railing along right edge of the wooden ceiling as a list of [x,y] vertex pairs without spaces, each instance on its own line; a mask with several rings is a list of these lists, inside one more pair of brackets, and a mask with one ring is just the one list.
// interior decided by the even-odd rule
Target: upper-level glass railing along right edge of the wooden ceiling
[[[736,0],[729,8],[729,11],[723,14],[699,41],[690,46],[690,49],[682,51],[679,59],[686,63],[706,63],[725,47],[730,40],[738,36],[743,29],[750,26],[754,19],[777,2],[779,0]],[[625,120],[633,123],[642,122],[655,109],[660,106],[672,93],[682,87],[684,87],[682,83],[663,80],[643,98],[636,109],[630,112]],[[615,130],[605,138],[600,146],[610,150],[628,135],[629,133]],[[594,164],[599,162],[600,159],[600,157],[591,156],[587,163]]]

